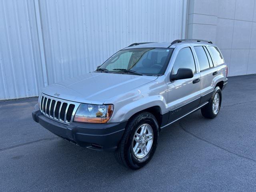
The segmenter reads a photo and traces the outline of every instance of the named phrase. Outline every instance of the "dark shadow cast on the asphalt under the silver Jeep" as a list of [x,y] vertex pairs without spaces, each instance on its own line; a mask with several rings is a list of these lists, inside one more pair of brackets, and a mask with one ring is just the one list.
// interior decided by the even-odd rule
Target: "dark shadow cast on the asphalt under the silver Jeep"
[[[197,113],[194,116],[200,117],[200,114]],[[175,122],[160,132],[156,154],[146,166],[154,170],[160,163],[166,162],[163,159],[168,156],[172,157],[172,162],[179,162],[180,152],[184,151],[184,146],[192,139],[194,138],[182,130],[179,122]],[[40,156],[46,157],[46,161],[43,162],[42,167],[52,166],[55,169],[55,166],[58,166],[58,170],[65,170],[73,176],[78,173],[78,170],[84,175],[98,172],[98,174],[113,177],[123,176],[124,172],[126,174],[134,172],[118,164],[114,152],[82,148],[60,138],[52,140],[51,145],[44,145],[43,151]],[[146,170],[142,168],[138,171],[145,172]],[[129,177],[129,174],[126,177]]]

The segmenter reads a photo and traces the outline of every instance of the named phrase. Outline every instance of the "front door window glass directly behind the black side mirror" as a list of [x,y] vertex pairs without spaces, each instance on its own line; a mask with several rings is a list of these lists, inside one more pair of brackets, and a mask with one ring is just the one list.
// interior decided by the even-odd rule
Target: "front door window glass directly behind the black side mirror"
[[189,47],[182,48],[178,53],[172,68],[172,74],[177,74],[179,68],[189,68],[196,72],[196,66],[192,51]]

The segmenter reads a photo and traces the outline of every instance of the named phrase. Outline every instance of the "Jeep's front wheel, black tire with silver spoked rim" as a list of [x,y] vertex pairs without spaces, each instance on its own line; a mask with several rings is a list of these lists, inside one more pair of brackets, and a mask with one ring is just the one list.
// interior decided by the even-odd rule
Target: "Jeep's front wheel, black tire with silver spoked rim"
[[[150,129],[150,127],[152,129]],[[145,141],[143,140],[143,134],[140,137],[140,139],[141,141],[143,140],[146,148],[149,146],[150,148],[147,152],[145,148],[144,148],[145,150],[143,149],[145,154],[142,152],[141,149],[138,151],[136,150],[137,152],[136,154],[136,152],[134,152],[134,148],[136,148],[137,143],[138,143],[138,148],[141,148],[143,146],[143,144],[139,144],[139,138],[137,137],[138,134],[136,133],[140,133],[142,129],[145,130],[145,128],[147,128],[146,129],[147,134],[144,134]],[[150,144],[150,136],[149,136],[150,131],[152,132],[151,144]],[[154,155],[154,152],[156,150],[156,146],[158,143],[158,134],[159,134],[159,126],[153,114],[149,112],[142,112],[132,117],[126,126],[124,135],[120,143],[118,144],[117,150],[115,151],[116,160],[123,166],[130,169],[136,170],[136,169],[142,168],[150,161],[150,159]],[[136,141],[134,139],[136,139]],[[139,145],[141,145],[141,147]]]

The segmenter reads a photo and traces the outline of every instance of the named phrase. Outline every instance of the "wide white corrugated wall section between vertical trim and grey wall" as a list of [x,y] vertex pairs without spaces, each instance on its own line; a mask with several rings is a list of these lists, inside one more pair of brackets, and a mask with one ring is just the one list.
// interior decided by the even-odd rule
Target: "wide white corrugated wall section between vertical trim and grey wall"
[[182,35],[183,0],[41,0],[48,82],[96,69],[134,42]]

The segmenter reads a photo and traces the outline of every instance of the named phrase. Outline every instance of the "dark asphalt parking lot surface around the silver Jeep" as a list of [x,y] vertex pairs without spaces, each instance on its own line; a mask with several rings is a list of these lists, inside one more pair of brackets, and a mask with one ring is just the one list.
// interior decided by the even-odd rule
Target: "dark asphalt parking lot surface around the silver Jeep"
[[33,122],[37,98],[0,102],[0,191],[256,191],[256,75],[230,77],[215,119],[200,110],[160,132],[140,170]]

